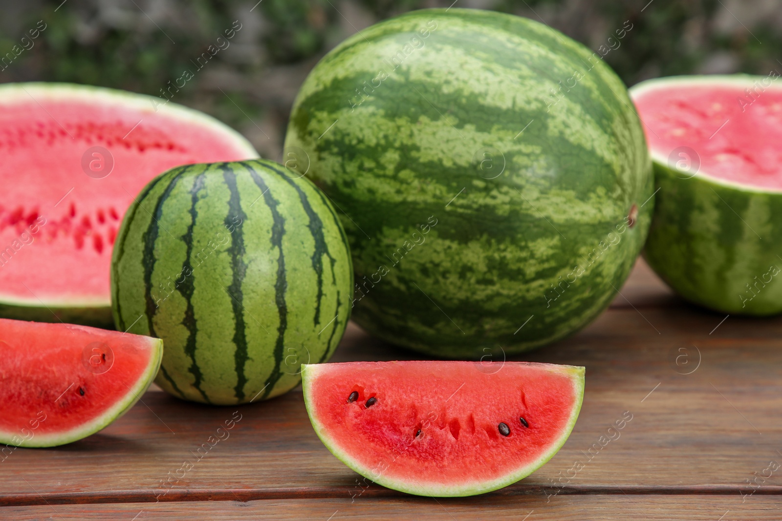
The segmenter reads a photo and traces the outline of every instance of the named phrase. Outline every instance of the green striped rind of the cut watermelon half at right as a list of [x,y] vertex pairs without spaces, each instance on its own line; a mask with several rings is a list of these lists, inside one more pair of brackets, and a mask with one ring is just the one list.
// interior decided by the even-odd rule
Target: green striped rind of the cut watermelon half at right
[[[630,95],[640,98],[658,88],[690,85],[752,88],[762,79],[744,74],[664,77],[635,85]],[[765,88],[778,91],[782,85]],[[644,248],[649,266],[685,300],[705,308],[748,316],[782,312],[782,282],[772,280],[755,296],[745,286],[771,266],[782,267],[782,229],[774,228],[782,221],[782,191],[710,177],[704,170],[683,174],[669,166],[664,152],[650,152],[658,192]]]

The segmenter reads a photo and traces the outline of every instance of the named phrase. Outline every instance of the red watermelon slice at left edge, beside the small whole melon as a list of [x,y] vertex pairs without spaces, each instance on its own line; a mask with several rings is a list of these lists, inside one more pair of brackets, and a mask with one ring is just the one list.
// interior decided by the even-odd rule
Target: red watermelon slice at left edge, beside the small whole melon
[[53,447],[95,434],[131,409],[162,358],[157,338],[0,319],[0,444]]

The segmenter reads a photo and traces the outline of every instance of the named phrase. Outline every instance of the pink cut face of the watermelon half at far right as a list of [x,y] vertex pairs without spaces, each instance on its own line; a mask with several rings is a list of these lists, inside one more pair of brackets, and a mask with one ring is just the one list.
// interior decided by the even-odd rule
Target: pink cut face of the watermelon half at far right
[[671,77],[634,87],[652,157],[683,175],[782,189],[782,80],[747,78]]

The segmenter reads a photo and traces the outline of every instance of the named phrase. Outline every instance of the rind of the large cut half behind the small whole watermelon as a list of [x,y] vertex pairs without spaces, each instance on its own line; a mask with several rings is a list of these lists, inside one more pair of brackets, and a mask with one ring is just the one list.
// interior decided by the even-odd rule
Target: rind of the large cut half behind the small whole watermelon
[[[246,152],[247,159],[259,157],[258,152],[246,137],[228,127],[220,120],[190,109],[185,105],[166,102],[163,98],[120,91],[106,87],[68,83],[9,83],[0,85],[0,107],[13,104],[16,101],[29,102],[46,100],[84,100],[87,102],[120,102],[132,109],[145,112],[160,112],[173,120],[179,120],[183,125],[194,125],[222,134],[237,148]],[[36,320],[41,322],[83,323],[96,327],[111,327],[113,323],[110,300],[102,299],[70,299],[53,300],[50,298],[23,299],[16,295],[2,294],[0,291],[0,316],[13,319]]]

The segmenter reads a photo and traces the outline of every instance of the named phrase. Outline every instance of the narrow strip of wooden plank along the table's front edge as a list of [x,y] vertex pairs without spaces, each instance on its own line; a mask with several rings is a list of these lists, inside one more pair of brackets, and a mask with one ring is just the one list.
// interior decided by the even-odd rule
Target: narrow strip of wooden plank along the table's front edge
[[388,498],[364,500],[268,500],[199,501],[169,503],[120,503],[114,505],[43,505],[5,507],[2,519],[210,519],[242,521],[273,519],[286,521],[314,519],[417,519],[420,521],[461,521],[462,519],[514,519],[515,521],[650,521],[688,519],[690,521],[767,521],[782,519],[780,501],[761,496],[741,503],[741,499],[700,496],[586,495],[558,496],[551,501],[536,496],[477,498]]

